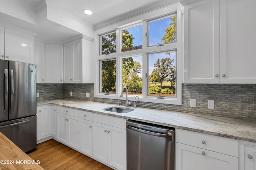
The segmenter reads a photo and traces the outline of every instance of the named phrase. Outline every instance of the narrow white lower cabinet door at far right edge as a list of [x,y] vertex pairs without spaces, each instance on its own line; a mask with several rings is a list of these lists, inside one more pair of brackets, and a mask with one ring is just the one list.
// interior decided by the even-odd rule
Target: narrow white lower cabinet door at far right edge
[[256,170],[256,143],[239,141],[239,170]]

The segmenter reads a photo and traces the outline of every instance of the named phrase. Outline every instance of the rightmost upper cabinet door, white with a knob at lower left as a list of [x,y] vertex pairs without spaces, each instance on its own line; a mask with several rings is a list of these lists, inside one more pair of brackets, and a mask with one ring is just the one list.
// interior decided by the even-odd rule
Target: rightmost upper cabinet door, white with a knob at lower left
[[221,0],[220,3],[220,82],[254,84],[256,1]]

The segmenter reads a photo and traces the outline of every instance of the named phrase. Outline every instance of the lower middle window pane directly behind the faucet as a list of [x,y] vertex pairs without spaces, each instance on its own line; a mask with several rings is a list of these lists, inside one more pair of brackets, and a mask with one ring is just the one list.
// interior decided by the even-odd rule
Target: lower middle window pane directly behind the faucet
[[142,56],[122,59],[122,85],[128,94],[142,95]]

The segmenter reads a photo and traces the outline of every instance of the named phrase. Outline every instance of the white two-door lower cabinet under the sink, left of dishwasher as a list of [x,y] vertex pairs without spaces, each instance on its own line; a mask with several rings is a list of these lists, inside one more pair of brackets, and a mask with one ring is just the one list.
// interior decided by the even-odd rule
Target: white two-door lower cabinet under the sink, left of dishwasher
[[126,119],[95,113],[92,121],[93,157],[126,170]]

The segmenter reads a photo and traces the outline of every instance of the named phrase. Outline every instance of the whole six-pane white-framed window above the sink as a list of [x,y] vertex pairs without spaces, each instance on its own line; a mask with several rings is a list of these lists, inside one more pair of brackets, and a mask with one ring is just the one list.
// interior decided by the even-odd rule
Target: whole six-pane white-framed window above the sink
[[[168,14],[170,11],[173,13]],[[108,28],[118,27],[116,31],[99,33],[100,77],[96,79],[94,97],[124,99],[120,94],[125,93],[122,88],[126,86],[128,100],[139,96],[141,102],[181,104],[181,7],[174,5],[163,13],[162,17],[153,18],[152,14],[148,20],[123,27],[113,24]]]

